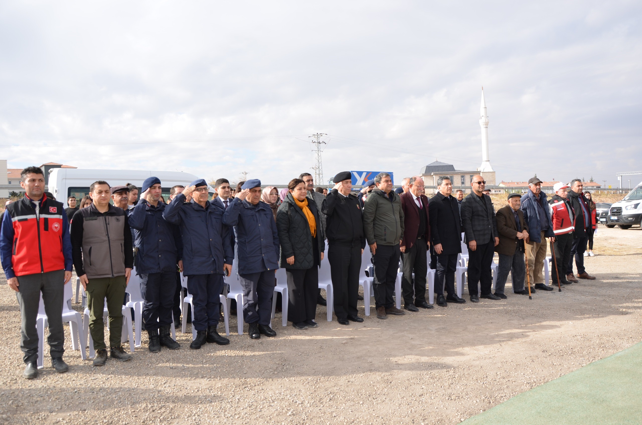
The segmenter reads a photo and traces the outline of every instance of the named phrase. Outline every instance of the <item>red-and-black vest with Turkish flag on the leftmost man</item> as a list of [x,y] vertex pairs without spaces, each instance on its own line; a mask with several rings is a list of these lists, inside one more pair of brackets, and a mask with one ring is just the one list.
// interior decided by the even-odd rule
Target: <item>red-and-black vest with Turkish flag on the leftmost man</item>
[[7,205],[4,214],[13,222],[12,266],[16,276],[53,272],[65,268],[62,250],[62,203],[42,196],[39,217],[33,202],[24,196]]

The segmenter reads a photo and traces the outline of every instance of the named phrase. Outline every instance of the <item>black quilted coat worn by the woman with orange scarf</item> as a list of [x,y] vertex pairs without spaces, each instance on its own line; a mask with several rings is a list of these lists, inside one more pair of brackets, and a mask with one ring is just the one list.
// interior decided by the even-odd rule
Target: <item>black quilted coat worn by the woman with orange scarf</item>
[[[297,204],[291,193],[288,193],[283,203],[277,210],[277,230],[279,231],[279,241],[281,242],[281,267],[293,269],[312,268],[315,263],[321,264],[321,252],[325,251],[325,242],[321,238],[321,222],[317,204],[308,199],[308,208],[312,211],[317,221],[317,243],[318,258],[315,261],[313,241],[310,234],[308,219]],[[286,258],[294,256],[294,264],[289,265]]]

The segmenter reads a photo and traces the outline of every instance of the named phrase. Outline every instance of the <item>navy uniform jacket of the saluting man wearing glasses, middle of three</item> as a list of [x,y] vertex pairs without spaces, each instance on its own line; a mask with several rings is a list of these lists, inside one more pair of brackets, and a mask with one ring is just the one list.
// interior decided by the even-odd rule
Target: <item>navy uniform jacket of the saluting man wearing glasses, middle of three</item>
[[183,239],[183,274],[223,274],[223,264],[232,264],[230,228],[223,224],[223,207],[211,202],[205,208],[194,200],[185,202],[179,193],[165,208],[163,217],[180,227]]

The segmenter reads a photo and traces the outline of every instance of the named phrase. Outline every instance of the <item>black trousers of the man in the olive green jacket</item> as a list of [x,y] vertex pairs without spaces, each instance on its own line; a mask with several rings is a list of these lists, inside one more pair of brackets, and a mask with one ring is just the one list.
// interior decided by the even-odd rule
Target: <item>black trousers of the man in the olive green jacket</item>
[[392,308],[395,281],[399,272],[399,245],[377,245],[373,256],[374,264],[374,306]]

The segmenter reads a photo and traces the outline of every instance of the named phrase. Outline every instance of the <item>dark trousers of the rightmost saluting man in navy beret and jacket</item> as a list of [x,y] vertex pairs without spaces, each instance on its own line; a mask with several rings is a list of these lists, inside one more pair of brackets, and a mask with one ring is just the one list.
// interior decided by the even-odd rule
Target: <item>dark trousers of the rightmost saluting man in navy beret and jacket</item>
[[243,320],[245,323],[270,325],[274,270],[239,275],[243,286]]

